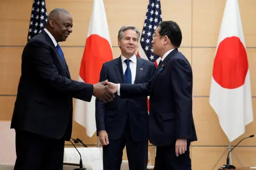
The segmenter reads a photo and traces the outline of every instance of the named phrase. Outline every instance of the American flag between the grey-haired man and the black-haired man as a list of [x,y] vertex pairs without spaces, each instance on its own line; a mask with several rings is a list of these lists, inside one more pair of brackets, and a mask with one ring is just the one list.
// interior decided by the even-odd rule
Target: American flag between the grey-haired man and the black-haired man
[[146,17],[140,39],[138,56],[158,64],[160,58],[154,55],[152,49],[153,34],[158,24],[162,21],[160,0],[149,0],[147,5]]

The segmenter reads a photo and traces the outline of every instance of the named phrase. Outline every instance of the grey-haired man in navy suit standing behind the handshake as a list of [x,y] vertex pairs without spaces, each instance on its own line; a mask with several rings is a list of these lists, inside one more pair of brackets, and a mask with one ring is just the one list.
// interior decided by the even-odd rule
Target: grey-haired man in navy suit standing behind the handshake
[[[124,26],[118,33],[121,56],[102,65],[100,81],[137,84],[150,81],[156,66],[136,56],[140,32]],[[96,100],[97,134],[103,145],[103,169],[120,170],[123,149],[129,168],[146,170],[148,147],[147,96],[120,99],[104,104]]]

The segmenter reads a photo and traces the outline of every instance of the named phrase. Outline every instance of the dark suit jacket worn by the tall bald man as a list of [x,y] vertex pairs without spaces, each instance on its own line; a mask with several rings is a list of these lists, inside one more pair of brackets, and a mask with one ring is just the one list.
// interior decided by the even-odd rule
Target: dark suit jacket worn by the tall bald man
[[93,85],[73,81],[45,31],[26,44],[11,128],[69,140],[72,98],[90,102]]

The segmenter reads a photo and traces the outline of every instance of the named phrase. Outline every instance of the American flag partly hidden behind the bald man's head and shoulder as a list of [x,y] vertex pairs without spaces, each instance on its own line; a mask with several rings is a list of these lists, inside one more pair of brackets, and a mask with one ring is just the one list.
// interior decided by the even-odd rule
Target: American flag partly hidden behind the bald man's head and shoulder
[[45,0],[33,0],[28,40],[44,30],[46,21],[47,11]]

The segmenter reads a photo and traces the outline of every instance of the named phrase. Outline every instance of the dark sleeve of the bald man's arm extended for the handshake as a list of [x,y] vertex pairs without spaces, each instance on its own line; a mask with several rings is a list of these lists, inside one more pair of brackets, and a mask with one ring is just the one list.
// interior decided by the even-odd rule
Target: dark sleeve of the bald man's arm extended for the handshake
[[93,95],[93,85],[74,81],[58,74],[52,59],[50,49],[40,41],[29,44],[32,67],[38,80],[50,90],[70,95],[73,98],[90,102]]

